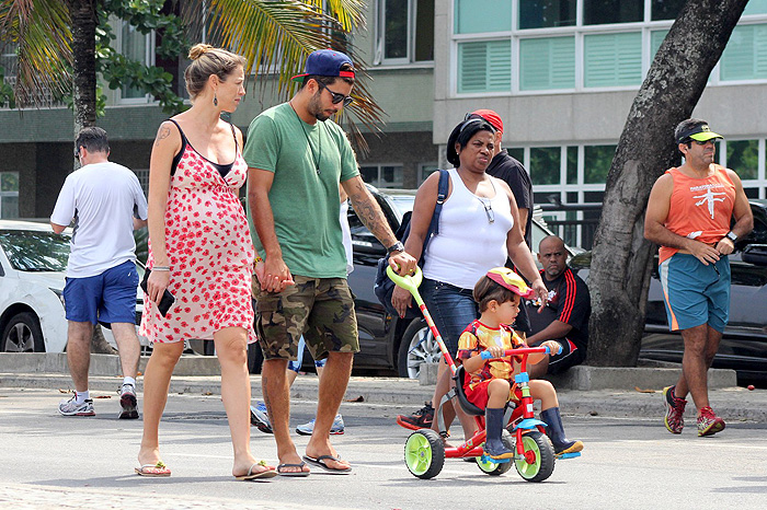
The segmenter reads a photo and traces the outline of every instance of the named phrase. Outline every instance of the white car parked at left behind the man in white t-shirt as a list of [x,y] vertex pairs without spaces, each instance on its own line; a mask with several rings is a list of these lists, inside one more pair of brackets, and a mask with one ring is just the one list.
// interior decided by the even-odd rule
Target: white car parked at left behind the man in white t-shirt
[[[70,235],[69,229],[55,234],[49,224],[0,220],[0,352],[66,349],[61,291]],[[142,295],[137,289],[137,320],[144,310]],[[106,328],[103,332],[114,346],[112,333]],[[139,340],[148,345],[146,338]]]

